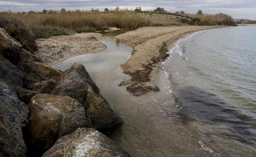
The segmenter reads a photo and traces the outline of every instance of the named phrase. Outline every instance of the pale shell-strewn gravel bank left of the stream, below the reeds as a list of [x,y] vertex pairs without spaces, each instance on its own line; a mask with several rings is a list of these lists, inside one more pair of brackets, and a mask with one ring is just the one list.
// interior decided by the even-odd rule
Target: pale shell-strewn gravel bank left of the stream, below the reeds
[[95,53],[107,47],[97,40],[99,33],[78,33],[70,36],[53,36],[37,39],[38,50],[34,52],[48,66],[57,64],[76,55]]

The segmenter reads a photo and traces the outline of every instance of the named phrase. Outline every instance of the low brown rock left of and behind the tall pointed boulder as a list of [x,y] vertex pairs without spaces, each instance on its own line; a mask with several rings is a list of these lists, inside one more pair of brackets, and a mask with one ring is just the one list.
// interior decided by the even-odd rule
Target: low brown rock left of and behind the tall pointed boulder
[[36,61],[20,62],[16,66],[26,73],[27,81],[30,83],[49,79],[58,80],[62,75],[62,72]]

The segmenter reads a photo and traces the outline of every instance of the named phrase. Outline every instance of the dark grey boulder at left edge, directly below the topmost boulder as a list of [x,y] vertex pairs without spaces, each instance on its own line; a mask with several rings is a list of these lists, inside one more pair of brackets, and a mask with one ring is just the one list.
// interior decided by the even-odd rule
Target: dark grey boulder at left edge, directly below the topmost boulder
[[23,87],[25,74],[0,55],[0,79],[8,84],[12,91],[17,92]]

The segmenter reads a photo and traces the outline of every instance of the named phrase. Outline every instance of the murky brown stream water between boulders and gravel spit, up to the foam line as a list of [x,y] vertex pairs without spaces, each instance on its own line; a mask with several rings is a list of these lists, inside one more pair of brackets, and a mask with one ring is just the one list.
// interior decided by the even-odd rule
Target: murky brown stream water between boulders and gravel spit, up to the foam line
[[154,78],[160,92],[135,97],[125,86],[118,86],[129,79],[120,66],[130,58],[132,49],[112,37],[101,42],[107,45],[106,50],[75,56],[53,67],[64,71],[73,63],[85,66],[112,109],[125,122],[109,135],[112,140],[133,157],[204,157],[215,153],[183,125],[177,114],[181,106],[164,71]]

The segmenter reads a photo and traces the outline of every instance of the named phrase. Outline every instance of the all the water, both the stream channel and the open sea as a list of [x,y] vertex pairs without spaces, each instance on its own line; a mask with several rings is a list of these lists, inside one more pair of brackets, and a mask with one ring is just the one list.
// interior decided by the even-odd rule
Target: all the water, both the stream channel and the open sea
[[113,37],[101,39],[106,50],[53,67],[85,66],[125,122],[109,137],[133,157],[254,157],[255,28],[202,31],[178,41],[165,71],[153,78],[160,92],[140,97],[118,86],[130,78],[120,66],[132,49]]

